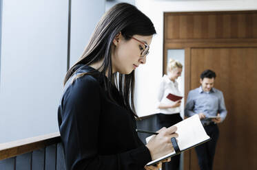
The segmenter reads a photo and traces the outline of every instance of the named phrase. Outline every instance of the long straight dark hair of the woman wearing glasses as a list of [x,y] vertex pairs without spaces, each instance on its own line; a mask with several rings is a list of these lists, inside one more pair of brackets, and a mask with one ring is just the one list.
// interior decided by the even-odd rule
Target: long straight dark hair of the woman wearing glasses
[[134,110],[134,71],[128,75],[118,73],[119,78],[117,78],[117,73],[112,73],[111,46],[112,41],[119,32],[121,32],[125,40],[130,40],[130,36],[135,34],[141,36],[156,34],[152,21],[134,5],[129,3],[114,5],[105,12],[96,25],[90,42],[85,47],[81,58],[68,70],[64,84],[72,77],[79,64],[90,65],[103,60],[99,71],[103,75],[107,72],[108,80],[105,80],[104,84],[108,97],[114,101],[111,95],[111,86],[115,84],[123,97],[125,107],[137,117]]

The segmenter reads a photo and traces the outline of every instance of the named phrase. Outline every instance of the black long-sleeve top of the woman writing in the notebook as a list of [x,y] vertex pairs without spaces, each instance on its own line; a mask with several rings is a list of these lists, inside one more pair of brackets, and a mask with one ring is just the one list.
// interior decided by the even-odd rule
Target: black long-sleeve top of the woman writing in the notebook
[[[94,71],[73,83],[76,74]],[[136,121],[123,106],[113,86],[107,97],[104,75],[90,66],[81,68],[65,84],[58,109],[59,130],[68,169],[136,170],[152,160],[150,151],[136,134]]]

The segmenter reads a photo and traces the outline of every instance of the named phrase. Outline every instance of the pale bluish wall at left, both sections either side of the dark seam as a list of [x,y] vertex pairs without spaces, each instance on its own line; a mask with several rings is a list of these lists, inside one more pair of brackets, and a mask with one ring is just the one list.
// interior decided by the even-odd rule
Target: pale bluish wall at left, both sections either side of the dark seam
[[[68,2],[3,1],[0,143],[58,131],[68,56]],[[72,1],[71,62],[81,56],[105,10],[105,0],[86,2]]]

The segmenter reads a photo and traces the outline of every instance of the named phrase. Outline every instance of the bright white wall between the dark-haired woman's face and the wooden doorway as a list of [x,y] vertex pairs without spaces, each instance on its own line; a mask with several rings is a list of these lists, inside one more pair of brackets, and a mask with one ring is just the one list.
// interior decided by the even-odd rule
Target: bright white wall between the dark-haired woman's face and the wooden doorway
[[136,71],[135,105],[140,117],[154,113],[156,106],[163,73],[163,12],[257,10],[256,0],[136,0],[135,4],[150,17],[157,32],[147,63]]

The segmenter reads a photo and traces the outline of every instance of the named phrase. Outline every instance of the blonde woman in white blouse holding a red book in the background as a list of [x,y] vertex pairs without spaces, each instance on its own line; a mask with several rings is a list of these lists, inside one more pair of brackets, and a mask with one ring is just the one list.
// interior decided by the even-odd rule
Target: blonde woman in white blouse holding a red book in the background
[[[167,101],[167,95],[172,93],[173,95],[181,96],[181,92],[178,90],[178,79],[181,76],[183,65],[173,59],[169,60],[167,64],[167,75],[163,75],[161,85],[158,90],[158,108],[156,112],[157,127],[170,127],[180,121],[182,121],[181,112],[181,100]],[[180,155],[171,158],[170,162],[165,163],[165,169],[178,170],[180,162]]]

